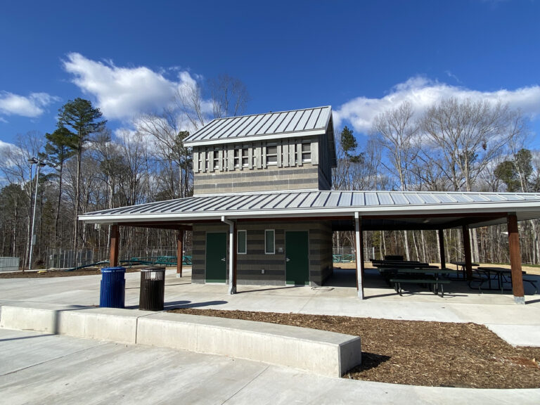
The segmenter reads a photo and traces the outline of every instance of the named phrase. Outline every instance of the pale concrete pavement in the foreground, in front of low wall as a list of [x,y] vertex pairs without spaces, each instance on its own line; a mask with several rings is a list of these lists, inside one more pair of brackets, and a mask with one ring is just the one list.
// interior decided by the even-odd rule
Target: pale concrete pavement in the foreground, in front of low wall
[[540,390],[346,380],[225,356],[0,329],[1,402],[17,404],[539,404]]

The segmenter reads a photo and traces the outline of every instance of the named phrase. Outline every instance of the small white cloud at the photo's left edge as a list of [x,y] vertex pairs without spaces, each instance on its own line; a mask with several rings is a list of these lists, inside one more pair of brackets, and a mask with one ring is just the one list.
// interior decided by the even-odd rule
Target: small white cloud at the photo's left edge
[[[47,105],[60,98],[47,93],[30,93],[29,96],[0,91],[0,114],[22,115],[23,117],[35,118],[45,112]],[[6,122],[6,120],[2,120]]]

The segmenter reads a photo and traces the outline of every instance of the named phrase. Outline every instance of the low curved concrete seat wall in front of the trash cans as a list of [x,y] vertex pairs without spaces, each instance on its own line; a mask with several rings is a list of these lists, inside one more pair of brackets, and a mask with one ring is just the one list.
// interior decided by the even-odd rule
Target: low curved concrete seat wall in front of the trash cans
[[220,354],[334,377],[361,364],[357,336],[209,316],[24,302],[1,307],[0,328]]

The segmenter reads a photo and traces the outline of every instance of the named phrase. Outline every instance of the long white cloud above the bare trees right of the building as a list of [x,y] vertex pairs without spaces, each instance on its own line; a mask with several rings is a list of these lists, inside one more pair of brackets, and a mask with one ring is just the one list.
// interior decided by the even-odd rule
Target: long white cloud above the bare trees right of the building
[[349,123],[355,131],[366,133],[371,129],[371,123],[378,114],[397,108],[404,101],[409,101],[416,113],[422,113],[433,103],[449,97],[456,97],[459,100],[466,98],[472,100],[484,98],[494,102],[500,100],[508,103],[510,108],[519,108],[532,119],[540,115],[540,86],[516,90],[476,91],[418,76],[397,84],[389,94],[381,98],[353,98],[335,110],[333,118],[337,127]]

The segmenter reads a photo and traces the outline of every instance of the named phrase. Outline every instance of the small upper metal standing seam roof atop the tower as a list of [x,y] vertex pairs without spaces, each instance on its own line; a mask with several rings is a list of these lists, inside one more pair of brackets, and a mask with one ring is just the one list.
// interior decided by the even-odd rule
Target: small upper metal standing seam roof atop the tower
[[217,118],[184,139],[187,146],[229,143],[288,136],[309,136],[326,131],[332,107],[306,108],[240,117]]

